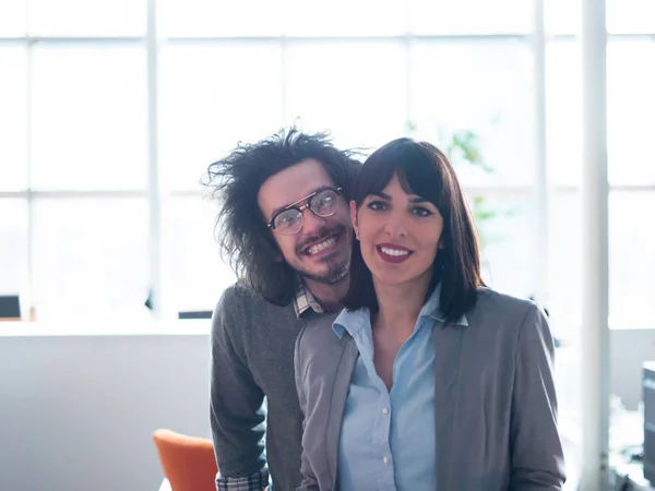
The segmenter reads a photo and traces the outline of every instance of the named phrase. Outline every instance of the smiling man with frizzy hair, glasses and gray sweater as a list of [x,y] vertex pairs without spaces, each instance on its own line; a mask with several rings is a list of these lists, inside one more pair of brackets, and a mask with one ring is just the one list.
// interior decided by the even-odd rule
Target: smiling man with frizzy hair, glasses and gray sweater
[[239,145],[209,168],[205,183],[221,200],[218,240],[238,276],[212,321],[218,491],[261,491],[269,471],[272,491],[300,484],[294,344],[347,291],[358,167],[325,135],[291,129]]

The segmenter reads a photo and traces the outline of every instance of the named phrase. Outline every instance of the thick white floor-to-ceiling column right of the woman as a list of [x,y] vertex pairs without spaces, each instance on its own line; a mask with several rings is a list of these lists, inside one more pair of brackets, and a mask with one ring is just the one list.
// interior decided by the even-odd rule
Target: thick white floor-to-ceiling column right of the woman
[[605,0],[582,2],[581,491],[606,491],[609,444],[609,278]]

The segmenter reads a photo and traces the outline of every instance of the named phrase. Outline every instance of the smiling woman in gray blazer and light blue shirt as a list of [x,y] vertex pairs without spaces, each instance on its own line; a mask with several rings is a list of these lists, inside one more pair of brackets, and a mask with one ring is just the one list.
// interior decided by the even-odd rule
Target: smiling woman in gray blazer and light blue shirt
[[543,311],[486,288],[446,157],[395,140],[364,164],[345,309],[296,344],[300,490],[558,490]]

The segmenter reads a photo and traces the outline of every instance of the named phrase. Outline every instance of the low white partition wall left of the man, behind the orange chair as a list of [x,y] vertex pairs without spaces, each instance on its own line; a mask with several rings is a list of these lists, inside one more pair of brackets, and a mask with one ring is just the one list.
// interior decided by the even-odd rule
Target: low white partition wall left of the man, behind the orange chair
[[0,333],[0,490],[156,491],[153,431],[210,435],[203,331]]

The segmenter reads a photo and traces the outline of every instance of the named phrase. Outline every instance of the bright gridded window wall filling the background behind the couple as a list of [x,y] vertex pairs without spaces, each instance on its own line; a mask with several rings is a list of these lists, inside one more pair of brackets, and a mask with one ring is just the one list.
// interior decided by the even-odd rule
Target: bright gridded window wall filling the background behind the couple
[[[655,2],[606,16],[612,393],[635,409],[655,358]],[[410,135],[455,163],[487,283],[548,309],[575,433],[581,22],[579,0],[0,0],[0,296],[46,336],[211,311],[235,277],[209,164],[291,124],[365,155]]]

